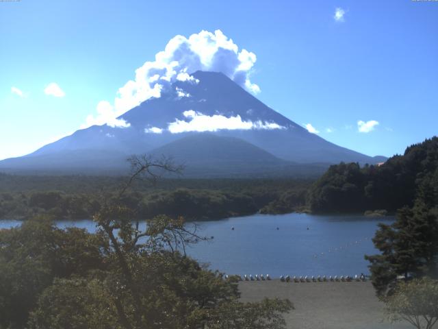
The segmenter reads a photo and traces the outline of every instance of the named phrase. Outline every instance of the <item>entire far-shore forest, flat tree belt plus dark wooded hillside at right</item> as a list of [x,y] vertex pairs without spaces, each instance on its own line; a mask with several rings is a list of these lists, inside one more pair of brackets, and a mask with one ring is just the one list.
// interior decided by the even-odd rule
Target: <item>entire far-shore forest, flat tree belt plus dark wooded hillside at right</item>
[[[48,214],[89,219],[109,202],[129,176],[31,176],[0,173],[0,219]],[[181,215],[188,221],[222,219],[256,212],[395,214],[413,206],[426,182],[438,186],[438,138],[407,147],[381,165],[332,165],[318,180],[162,179],[140,180],[120,202],[136,218]],[[44,186],[42,188],[41,186]],[[438,188],[438,187],[435,187]]]

